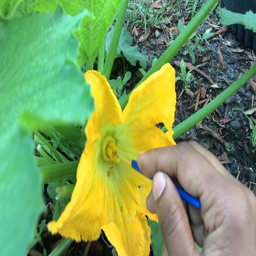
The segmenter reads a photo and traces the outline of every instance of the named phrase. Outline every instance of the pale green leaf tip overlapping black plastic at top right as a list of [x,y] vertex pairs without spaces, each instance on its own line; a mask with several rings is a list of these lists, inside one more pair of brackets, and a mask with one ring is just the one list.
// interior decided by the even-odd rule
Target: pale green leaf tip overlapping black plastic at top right
[[221,24],[225,26],[242,24],[246,29],[256,32],[256,14],[252,11],[248,11],[246,14],[234,13],[225,8],[221,8],[219,11]]

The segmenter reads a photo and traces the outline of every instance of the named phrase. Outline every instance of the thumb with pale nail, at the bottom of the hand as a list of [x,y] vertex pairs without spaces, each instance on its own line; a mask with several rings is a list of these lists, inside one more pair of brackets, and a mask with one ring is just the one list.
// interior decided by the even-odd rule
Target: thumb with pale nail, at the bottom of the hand
[[152,194],[168,254],[198,254],[183,203],[174,183],[166,174],[158,172],[154,176]]

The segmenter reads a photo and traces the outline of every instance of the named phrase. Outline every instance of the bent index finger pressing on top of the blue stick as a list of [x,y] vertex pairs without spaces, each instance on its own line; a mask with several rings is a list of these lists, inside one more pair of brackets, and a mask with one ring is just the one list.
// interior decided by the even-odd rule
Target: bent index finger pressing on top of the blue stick
[[221,197],[227,179],[233,181],[234,178],[226,170],[219,172],[212,161],[207,160],[194,146],[180,143],[156,148],[140,154],[138,165],[147,177],[163,172],[170,178],[176,178],[189,194],[200,200],[202,196],[202,200],[212,198],[212,191],[215,191],[215,197]]

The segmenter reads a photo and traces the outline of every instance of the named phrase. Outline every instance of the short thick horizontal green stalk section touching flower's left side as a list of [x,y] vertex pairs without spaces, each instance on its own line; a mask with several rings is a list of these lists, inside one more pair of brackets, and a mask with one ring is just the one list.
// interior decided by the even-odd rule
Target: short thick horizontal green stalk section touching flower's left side
[[55,163],[38,167],[42,175],[42,183],[50,183],[53,181],[62,180],[65,178],[76,178],[76,170],[78,161],[67,163]]

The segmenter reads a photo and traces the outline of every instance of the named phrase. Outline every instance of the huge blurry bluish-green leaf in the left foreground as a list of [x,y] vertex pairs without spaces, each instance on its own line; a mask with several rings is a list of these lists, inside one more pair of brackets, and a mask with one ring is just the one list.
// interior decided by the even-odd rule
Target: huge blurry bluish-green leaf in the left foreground
[[25,255],[43,209],[31,131],[84,124],[93,99],[76,66],[73,29],[82,14],[60,9],[0,20],[0,211],[3,255]]

